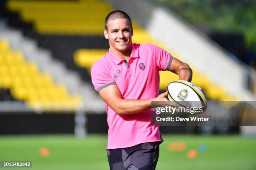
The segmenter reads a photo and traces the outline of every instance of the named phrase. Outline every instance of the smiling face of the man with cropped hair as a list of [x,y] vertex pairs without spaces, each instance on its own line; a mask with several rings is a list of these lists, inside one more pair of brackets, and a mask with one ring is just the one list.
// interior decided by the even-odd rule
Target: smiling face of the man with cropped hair
[[111,49],[126,52],[132,45],[133,28],[125,18],[108,21],[108,30],[104,30]]

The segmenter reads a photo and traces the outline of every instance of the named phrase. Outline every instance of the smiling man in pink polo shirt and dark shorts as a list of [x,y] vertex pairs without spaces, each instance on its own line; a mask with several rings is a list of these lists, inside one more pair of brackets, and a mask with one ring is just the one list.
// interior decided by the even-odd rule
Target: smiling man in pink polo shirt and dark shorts
[[113,11],[105,19],[109,52],[91,70],[95,90],[108,113],[108,161],[110,170],[154,170],[163,141],[158,126],[151,126],[151,101],[168,101],[159,93],[159,71],[192,79],[184,62],[151,44],[133,44],[130,17]]

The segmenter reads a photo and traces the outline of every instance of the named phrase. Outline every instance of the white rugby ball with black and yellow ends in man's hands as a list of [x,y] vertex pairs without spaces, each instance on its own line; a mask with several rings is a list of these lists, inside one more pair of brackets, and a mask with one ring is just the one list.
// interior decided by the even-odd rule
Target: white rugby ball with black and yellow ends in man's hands
[[167,86],[168,100],[179,107],[201,107],[207,109],[205,94],[196,85],[184,80],[170,82]]

